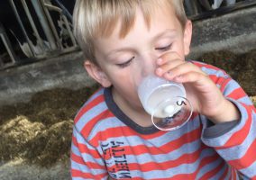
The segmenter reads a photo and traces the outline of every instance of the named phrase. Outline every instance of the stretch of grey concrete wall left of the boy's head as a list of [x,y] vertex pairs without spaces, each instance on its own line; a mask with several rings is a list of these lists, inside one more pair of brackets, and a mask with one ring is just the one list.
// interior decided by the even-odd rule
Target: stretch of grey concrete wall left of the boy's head
[[0,105],[27,102],[32,94],[56,87],[78,89],[94,82],[80,51],[0,71]]

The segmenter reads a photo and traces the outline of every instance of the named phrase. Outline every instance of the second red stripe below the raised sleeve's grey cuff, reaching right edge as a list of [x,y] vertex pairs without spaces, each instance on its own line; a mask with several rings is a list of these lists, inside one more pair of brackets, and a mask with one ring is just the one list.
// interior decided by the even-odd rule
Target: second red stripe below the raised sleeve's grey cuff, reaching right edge
[[250,148],[246,151],[245,155],[240,159],[230,160],[228,163],[231,166],[234,166],[236,169],[243,169],[248,166],[251,166],[256,161],[256,139],[251,143]]

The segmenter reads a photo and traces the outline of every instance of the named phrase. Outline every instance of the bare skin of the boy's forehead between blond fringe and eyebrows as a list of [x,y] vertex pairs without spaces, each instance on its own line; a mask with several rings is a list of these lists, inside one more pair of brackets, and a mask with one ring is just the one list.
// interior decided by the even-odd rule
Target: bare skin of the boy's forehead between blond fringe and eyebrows
[[151,26],[148,26],[144,20],[141,9],[137,9],[133,28],[127,32],[124,37],[120,37],[121,23],[119,23],[111,35],[107,37],[98,37],[95,41],[95,52],[97,55],[107,56],[116,49],[130,49],[140,51],[148,46],[158,43],[163,38],[177,36],[182,32],[178,18],[173,11],[158,9],[151,16]]

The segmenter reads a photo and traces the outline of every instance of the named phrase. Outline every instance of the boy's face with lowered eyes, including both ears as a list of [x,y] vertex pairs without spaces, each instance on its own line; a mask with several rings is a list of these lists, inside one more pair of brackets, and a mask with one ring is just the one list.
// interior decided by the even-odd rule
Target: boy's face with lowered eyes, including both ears
[[178,53],[182,59],[189,52],[191,23],[187,22],[183,30],[172,9],[155,10],[150,28],[138,10],[132,30],[123,39],[119,37],[119,27],[111,36],[96,39],[99,67],[86,62],[87,71],[96,81],[103,86],[113,85],[117,104],[123,103],[134,109],[141,107],[137,85],[143,74],[153,73],[156,60],[169,51]]

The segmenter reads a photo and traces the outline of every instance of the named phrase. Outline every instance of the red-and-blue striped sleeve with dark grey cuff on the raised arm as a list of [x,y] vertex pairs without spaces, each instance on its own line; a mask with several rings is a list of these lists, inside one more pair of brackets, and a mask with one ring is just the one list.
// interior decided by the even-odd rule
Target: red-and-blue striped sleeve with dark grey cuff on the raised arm
[[[242,87],[232,78],[225,78],[220,89],[224,96],[237,107],[241,113],[241,119],[208,127],[208,120],[202,117],[202,140],[207,146],[215,148],[218,154],[242,175],[256,179],[255,107]],[[216,129],[220,131],[216,132]]]

